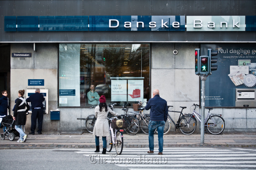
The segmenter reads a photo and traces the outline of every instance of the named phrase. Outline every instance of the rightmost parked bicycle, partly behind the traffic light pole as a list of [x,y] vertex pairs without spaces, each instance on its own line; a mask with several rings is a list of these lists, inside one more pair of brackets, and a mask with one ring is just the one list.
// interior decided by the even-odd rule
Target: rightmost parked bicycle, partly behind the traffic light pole
[[[199,106],[198,104],[193,104],[192,106],[195,106],[193,113],[190,115],[188,122],[190,119],[196,117],[198,121],[201,122],[201,115],[195,111],[196,107]],[[191,106],[191,107],[192,107]],[[209,110],[208,115],[204,119],[204,127],[207,128],[208,132],[210,132],[213,135],[218,135],[223,132],[225,128],[225,121],[221,117],[221,114],[211,114],[210,110],[213,110],[213,108],[207,108]],[[199,117],[198,117],[199,116]],[[195,118],[194,118],[195,119]]]

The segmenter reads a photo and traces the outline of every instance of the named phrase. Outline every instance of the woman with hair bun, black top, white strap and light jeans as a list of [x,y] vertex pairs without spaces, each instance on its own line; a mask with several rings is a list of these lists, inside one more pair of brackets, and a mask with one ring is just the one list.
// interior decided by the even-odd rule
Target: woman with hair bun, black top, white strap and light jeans
[[[26,124],[26,113],[30,110],[30,106],[24,99],[25,90],[19,90],[19,98],[16,99],[15,109],[13,112],[13,120],[15,120],[15,129],[20,133],[20,139],[17,142],[26,142],[28,135],[26,135],[22,126]],[[25,110],[25,108],[27,109]]]

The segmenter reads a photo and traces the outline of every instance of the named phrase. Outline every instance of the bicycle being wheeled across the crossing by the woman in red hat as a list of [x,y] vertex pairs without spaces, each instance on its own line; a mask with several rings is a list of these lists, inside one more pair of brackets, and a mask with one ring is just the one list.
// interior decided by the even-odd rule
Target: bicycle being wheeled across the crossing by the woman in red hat
[[109,131],[110,136],[107,136],[107,152],[110,152],[113,148],[113,145],[115,145],[115,151],[117,152],[117,155],[120,155],[122,153],[122,149],[124,147],[124,139],[122,132],[124,132],[123,129],[119,129],[114,126],[113,120],[116,120],[117,117],[108,118],[110,124],[109,124]]

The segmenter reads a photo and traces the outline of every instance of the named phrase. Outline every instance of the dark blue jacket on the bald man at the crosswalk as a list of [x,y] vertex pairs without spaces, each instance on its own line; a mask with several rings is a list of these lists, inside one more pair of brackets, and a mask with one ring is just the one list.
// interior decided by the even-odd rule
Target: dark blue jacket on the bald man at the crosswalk
[[149,99],[145,109],[150,109],[151,121],[167,121],[167,102],[160,95],[155,95],[152,99]]

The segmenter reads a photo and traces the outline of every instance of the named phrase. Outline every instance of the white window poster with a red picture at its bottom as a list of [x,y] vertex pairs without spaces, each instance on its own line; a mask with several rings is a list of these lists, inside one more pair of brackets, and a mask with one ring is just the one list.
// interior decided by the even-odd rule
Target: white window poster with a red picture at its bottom
[[143,80],[128,80],[128,101],[143,100]]

